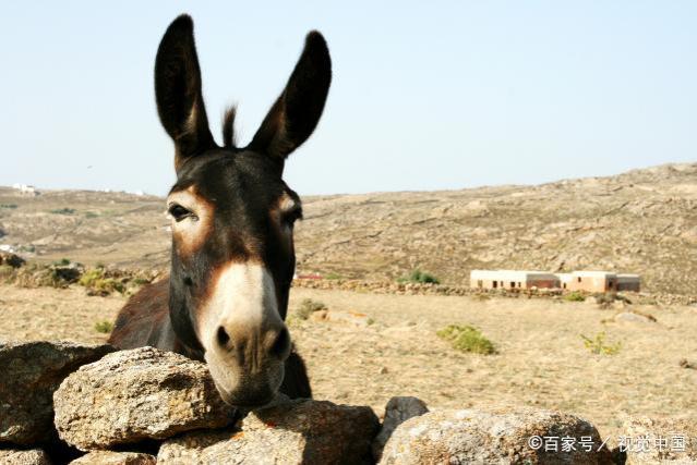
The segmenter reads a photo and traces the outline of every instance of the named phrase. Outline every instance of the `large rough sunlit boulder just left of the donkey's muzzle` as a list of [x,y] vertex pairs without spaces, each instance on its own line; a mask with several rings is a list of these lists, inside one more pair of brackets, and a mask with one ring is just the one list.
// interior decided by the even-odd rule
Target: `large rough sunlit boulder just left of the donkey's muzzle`
[[83,366],[53,403],[61,439],[84,451],[224,427],[235,416],[204,364],[153,347]]

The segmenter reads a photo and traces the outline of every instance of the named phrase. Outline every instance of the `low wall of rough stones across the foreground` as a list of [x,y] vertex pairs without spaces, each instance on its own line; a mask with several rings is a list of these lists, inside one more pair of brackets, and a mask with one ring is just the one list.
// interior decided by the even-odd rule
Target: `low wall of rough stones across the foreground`
[[[610,451],[577,416],[520,407],[437,409],[393,397],[366,406],[278,399],[243,416],[204,364],[153,347],[0,343],[0,464],[610,464],[697,460],[697,428],[650,419],[625,427],[693,433],[682,452]],[[552,444],[550,441],[556,441]]]

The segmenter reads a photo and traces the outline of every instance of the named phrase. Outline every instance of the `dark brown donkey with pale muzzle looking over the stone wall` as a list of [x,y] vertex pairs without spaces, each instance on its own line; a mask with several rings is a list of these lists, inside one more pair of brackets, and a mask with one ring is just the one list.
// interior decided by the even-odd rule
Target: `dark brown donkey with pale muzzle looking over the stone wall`
[[278,392],[310,397],[302,358],[285,325],[300,198],[283,180],[286,157],[310,137],[326,101],[332,61],[311,32],[286,88],[252,142],[235,143],[235,109],[213,139],[201,90],[193,21],[177,17],[155,60],[159,119],[175,143],[177,182],[167,197],[169,279],[133,295],[109,342],[152,345],[205,360],[223,400],[239,407]]

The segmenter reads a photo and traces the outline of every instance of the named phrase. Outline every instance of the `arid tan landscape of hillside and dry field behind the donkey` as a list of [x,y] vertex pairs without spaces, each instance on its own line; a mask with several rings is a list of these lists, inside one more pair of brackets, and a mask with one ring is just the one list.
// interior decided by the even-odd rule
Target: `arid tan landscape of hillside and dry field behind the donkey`
[[[29,261],[166,268],[161,198],[2,188],[0,205],[0,243]],[[640,273],[649,295],[697,294],[697,164],[539,186],[308,197],[304,210],[300,273],[394,282],[421,268],[464,285],[473,268],[593,268]],[[105,341],[95,325],[112,321],[127,298],[76,284],[2,284],[0,339]],[[300,317],[308,298],[326,305],[322,317]],[[587,417],[613,437],[625,416],[697,412],[697,306],[628,299],[296,286],[289,325],[319,399],[378,413],[393,395],[433,408],[531,405]],[[495,353],[453,348],[436,335],[452,323],[480,329]],[[600,336],[611,353],[593,353],[582,336]]]

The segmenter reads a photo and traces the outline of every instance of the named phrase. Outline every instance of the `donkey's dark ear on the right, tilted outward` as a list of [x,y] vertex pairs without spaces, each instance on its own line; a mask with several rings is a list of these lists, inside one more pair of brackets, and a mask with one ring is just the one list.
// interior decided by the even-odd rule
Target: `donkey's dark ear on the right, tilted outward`
[[332,82],[332,60],[322,34],[308,34],[286,88],[256,131],[250,148],[279,160],[310,137],[320,121]]

